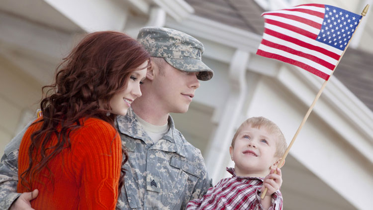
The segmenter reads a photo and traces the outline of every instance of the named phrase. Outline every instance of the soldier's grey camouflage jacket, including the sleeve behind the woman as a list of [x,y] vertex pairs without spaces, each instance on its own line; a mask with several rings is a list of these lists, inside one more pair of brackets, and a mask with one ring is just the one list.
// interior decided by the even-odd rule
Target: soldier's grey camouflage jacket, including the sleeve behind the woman
[[[154,144],[132,109],[126,116],[117,117],[122,145],[129,156],[117,209],[185,209],[189,200],[201,197],[211,187],[200,151],[175,128],[171,116],[169,125],[169,131]],[[5,147],[1,158],[1,210],[7,210],[20,195],[16,193],[18,148],[27,127]]]

